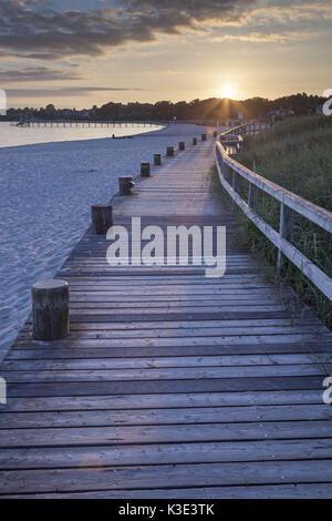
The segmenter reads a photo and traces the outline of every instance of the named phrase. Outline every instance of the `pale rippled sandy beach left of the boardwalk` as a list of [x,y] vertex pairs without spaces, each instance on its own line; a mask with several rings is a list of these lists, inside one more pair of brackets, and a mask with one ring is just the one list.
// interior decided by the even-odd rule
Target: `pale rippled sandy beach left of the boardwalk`
[[30,313],[30,288],[53,277],[90,224],[90,207],[117,192],[120,175],[191,144],[204,126],[173,124],[133,140],[86,140],[0,150],[0,360]]

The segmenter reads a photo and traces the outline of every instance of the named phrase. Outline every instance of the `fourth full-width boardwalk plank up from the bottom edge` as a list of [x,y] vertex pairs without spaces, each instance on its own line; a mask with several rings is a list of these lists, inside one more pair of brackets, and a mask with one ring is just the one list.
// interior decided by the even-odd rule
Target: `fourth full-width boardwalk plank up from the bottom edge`
[[[100,405],[101,407],[101,405]],[[55,412],[2,412],[0,416],[1,429],[28,429],[52,427],[116,427],[116,426],[157,426],[157,425],[186,425],[186,423],[222,423],[248,421],[298,421],[298,420],[326,420],[332,419],[332,411],[323,402],[314,405],[288,406],[251,406],[251,407],[206,407],[206,408],[154,408],[123,411],[107,409],[94,411],[55,411]],[[46,433],[45,433],[46,436]]]

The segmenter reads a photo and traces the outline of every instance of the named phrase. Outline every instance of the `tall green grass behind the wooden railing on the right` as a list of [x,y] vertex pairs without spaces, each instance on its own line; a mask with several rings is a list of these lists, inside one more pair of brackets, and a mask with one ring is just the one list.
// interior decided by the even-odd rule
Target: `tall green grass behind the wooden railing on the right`
[[[332,211],[332,116],[294,118],[255,136],[248,136],[237,161]],[[242,186],[241,195],[247,196],[246,186]],[[260,193],[255,210],[278,229],[279,206],[269,195]],[[240,217],[240,225],[247,244],[269,263],[276,264],[276,247],[243,215]],[[332,277],[330,234],[295,214],[292,244]],[[293,285],[305,303],[315,307],[318,315],[332,329],[331,302],[286,259],[281,276]]]

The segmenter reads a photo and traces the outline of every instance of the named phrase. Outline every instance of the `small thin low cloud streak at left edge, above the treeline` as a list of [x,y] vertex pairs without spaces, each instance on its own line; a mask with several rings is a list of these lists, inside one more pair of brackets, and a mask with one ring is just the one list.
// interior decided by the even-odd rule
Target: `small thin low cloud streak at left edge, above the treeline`
[[25,67],[21,70],[1,70],[0,82],[9,83],[15,81],[56,81],[56,80],[81,80],[83,76],[76,73],[52,70],[46,67]]

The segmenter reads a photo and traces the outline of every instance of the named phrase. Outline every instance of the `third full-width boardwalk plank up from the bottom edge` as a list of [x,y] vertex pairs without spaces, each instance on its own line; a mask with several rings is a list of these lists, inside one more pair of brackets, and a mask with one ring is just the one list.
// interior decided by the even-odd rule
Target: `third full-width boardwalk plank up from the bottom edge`
[[1,429],[0,447],[65,447],[93,445],[188,443],[190,441],[240,441],[266,439],[331,438],[332,422],[269,421],[166,425],[166,426],[117,426],[117,427],[68,427],[62,429]]

